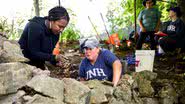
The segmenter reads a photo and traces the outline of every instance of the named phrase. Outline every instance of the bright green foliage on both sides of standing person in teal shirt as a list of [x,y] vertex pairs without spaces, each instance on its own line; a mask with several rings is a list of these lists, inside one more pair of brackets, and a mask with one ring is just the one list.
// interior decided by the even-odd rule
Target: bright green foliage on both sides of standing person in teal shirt
[[[145,7],[142,5],[143,0],[136,0],[136,20],[141,10]],[[176,0],[157,0],[155,8],[158,8],[161,11],[162,21],[167,21],[168,11],[167,9],[174,5]],[[110,4],[107,19],[110,22],[109,27],[112,32],[115,32],[116,29],[121,29],[125,27],[132,26],[134,24],[134,0],[121,0],[121,2],[113,1]]]

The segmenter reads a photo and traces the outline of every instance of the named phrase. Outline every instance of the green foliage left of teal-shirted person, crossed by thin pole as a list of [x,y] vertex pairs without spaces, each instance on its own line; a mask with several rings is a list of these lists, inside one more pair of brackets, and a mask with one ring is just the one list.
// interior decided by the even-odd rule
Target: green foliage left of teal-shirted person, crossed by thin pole
[[[136,16],[144,8],[142,6],[142,0],[137,1]],[[124,28],[131,26],[134,23],[134,0],[122,0],[119,2],[113,2],[110,4],[112,8],[109,8],[107,13],[108,21],[110,22],[111,30],[115,28]]]

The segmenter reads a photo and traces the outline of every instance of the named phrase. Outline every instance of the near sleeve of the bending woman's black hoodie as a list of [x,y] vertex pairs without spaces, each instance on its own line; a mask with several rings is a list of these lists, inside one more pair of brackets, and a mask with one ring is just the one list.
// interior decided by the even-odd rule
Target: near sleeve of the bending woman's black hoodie
[[41,51],[43,29],[37,23],[31,22],[28,27],[28,49],[32,59],[42,61],[55,61],[55,56]]

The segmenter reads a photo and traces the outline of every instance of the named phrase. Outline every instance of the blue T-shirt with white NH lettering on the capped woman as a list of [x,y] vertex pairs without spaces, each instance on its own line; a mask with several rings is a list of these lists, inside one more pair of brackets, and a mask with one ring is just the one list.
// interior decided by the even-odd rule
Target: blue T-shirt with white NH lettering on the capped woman
[[94,65],[87,58],[80,64],[79,77],[86,80],[98,79],[112,81],[113,63],[118,58],[107,49],[101,49]]

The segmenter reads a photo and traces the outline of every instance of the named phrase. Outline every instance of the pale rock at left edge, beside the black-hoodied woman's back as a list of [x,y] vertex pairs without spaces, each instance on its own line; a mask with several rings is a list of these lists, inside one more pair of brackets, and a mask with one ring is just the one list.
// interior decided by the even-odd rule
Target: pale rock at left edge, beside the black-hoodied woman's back
[[0,63],[26,61],[29,60],[24,57],[18,44],[4,41],[3,47],[0,50]]

